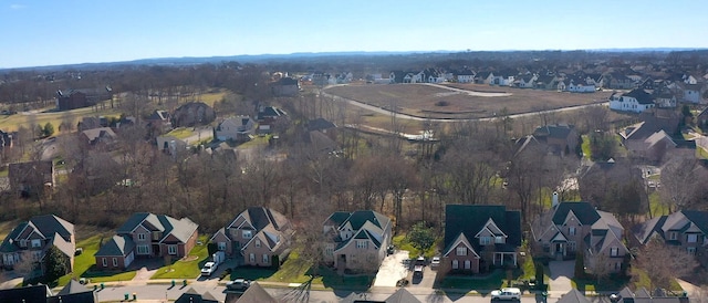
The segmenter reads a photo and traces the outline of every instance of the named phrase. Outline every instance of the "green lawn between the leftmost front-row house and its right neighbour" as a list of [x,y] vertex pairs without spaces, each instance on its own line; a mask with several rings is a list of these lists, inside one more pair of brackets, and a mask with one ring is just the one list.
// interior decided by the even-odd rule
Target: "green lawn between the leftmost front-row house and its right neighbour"
[[112,272],[95,270],[96,259],[94,254],[98,251],[101,239],[104,241],[111,237],[111,232],[100,232],[76,243],[76,248],[82,248],[83,252],[74,258],[74,272],[59,279],[59,285],[66,285],[71,279],[90,279],[92,283],[108,281],[127,281],[135,276],[135,271]]

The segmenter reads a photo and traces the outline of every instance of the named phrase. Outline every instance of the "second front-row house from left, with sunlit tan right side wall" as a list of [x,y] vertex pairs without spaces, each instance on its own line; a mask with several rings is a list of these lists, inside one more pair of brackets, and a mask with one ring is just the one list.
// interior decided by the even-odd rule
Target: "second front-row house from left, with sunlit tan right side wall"
[[199,226],[188,218],[137,212],[94,255],[96,269],[125,270],[135,258],[173,258],[176,261],[197,244]]

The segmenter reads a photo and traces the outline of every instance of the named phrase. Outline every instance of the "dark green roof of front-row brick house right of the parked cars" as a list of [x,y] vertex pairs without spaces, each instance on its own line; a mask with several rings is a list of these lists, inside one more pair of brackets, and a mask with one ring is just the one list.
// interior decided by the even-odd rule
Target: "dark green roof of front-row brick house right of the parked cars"
[[[516,251],[521,245],[521,212],[507,210],[506,206],[447,205],[445,207],[445,244],[446,249],[457,240],[460,232],[467,239],[473,239],[491,219],[507,236],[504,244],[494,244],[497,251]],[[479,241],[472,241],[479,251]]]

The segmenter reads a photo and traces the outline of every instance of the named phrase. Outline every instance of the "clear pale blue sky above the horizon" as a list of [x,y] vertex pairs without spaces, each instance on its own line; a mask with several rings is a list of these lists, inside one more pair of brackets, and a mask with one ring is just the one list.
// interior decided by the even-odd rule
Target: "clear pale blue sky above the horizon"
[[708,48],[706,0],[0,0],[0,69],[341,51]]

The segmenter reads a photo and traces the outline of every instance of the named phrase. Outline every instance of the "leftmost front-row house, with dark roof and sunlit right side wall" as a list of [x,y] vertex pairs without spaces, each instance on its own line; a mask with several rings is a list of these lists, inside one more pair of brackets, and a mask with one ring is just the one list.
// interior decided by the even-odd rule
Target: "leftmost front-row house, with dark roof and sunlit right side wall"
[[12,269],[22,258],[31,255],[43,273],[44,255],[51,247],[56,247],[64,254],[67,261],[65,271],[71,272],[76,249],[74,224],[54,215],[32,217],[12,229],[0,244],[0,265]]

